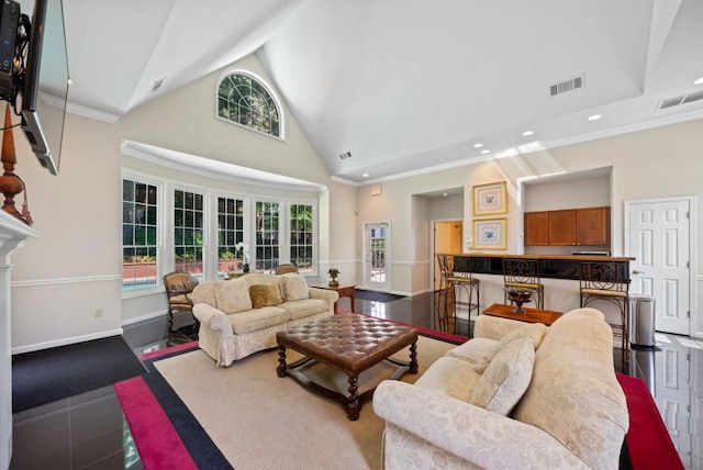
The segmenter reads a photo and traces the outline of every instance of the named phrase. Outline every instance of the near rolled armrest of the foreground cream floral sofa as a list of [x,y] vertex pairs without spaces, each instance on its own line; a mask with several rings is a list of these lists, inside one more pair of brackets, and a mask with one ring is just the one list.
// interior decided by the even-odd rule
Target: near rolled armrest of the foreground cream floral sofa
[[405,382],[381,382],[373,393],[373,411],[481,468],[587,468],[537,427]]

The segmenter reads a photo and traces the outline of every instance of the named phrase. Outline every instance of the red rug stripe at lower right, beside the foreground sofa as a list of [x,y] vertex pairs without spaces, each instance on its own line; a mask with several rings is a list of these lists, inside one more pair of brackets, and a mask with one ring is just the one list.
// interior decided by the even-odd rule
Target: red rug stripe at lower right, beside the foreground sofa
[[625,439],[633,469],[683,469],[647,383],[622,373],[617,374],[617,381],[625,392],[629,412],[629,430]]

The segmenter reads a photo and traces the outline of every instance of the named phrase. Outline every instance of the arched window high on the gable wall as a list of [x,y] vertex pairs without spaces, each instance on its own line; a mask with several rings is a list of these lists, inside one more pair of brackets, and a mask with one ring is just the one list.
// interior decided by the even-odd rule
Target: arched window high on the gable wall
[[221,78],[217,118],[281,137],[281,114],[274,93],[250,72],[235,70]]

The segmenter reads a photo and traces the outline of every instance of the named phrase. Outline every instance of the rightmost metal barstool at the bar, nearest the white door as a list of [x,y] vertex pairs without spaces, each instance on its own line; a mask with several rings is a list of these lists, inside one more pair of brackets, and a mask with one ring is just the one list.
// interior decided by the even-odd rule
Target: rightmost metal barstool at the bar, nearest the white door
[[605,301],[614,304],[621,314],[621,324],[610,323],[615,336],[620,331],[622,348],[627,360],[629,350],[629,279],[626,267],[613,261],[581,261],[581,306],[588,306],[595,301]]

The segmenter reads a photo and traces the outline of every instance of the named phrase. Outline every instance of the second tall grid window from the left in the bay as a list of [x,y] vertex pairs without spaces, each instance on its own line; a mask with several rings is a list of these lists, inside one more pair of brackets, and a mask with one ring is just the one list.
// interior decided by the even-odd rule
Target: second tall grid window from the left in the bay
[[198,280],[203,275],[202,194],[174,191],[174,253],[176,270],[189,272]]

